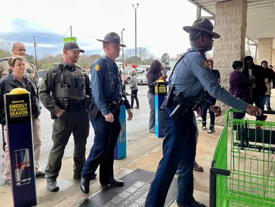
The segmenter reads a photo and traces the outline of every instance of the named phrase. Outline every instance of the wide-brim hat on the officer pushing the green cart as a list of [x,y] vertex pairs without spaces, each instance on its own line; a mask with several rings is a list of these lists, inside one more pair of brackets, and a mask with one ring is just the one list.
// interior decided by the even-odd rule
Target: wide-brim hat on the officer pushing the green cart
[[192,26],[183,27],[183,30],[185,30],[185,32],[188,32],[188,33],[191,30],[201,30],[209,34],[212,34],[214,39],[220,38],[221,37],[220,34],[213,32],[213,29],[214,29],[213,24],[209,19],[206,19],[206,18],[196,19],[196,21],[194,21]]

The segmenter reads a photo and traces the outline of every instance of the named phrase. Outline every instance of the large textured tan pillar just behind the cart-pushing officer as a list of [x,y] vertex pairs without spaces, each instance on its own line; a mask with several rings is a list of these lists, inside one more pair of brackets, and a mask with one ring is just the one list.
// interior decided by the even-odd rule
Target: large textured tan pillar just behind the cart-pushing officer
[[[247,3],[245,0],[232,0],[216,3],[214,30],[221,35],[214,40],[214,68],[221,73],[221,86],[229,90],[229,76],[232,63],[245,57],[245,32],[247,26]],[[218,101],[223,114],[216,118],[216,124],[225,124],[225,111],[230,106]]]

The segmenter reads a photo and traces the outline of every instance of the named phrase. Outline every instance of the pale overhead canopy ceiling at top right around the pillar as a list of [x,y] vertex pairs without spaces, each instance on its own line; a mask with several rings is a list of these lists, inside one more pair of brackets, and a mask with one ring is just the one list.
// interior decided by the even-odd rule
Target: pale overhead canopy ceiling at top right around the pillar
[[[215,16],[218,0],[188,0]],[[224,0],[223,0],[224,1]],[[246,37],[258,43],[261,38],[273,38],[275,48],[275,0],[245,0],[247,2]]]

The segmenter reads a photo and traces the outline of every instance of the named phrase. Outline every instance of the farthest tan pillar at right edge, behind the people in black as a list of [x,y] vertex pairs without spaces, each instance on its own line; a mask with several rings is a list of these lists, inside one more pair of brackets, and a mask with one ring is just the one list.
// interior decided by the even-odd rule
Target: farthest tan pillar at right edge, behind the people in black
[[258,55],[257,63],[261,65],[261,61],[267,61],[268,64],[272,62],[272,41],[273,38],[258,39]]

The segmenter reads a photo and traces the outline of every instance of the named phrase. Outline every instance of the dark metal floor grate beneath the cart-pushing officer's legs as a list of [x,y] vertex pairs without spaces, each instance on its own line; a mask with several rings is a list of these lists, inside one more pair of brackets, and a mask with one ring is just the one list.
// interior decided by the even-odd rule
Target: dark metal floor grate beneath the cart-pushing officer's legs
[[[121,178],[125,183],[123,187],[105,188],[96,195],[85,199],[83,203],[79,204],[79,207],[142,207],[154,175],[155,172],[137,168]],[[165,206],[170,206],[176,199],[177,190],[177,179],[174,178],[167,193]]]

